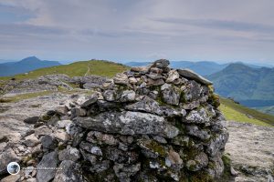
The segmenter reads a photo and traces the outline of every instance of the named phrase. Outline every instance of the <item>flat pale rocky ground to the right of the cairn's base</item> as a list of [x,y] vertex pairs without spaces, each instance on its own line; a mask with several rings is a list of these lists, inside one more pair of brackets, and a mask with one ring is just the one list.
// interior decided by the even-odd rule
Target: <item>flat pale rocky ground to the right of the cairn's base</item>
[[274,127],[227,121],[226,153],[237,170],[235,181],[273,181]]

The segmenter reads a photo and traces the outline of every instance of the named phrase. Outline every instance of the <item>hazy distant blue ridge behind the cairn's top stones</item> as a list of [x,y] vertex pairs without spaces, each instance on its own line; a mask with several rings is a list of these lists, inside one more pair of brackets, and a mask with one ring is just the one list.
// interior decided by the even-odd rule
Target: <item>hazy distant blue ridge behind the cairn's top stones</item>
[[[149,64],[150,62],[129,62],[129,63],[126,63],[125,65],[126,66],[146,66]],[[224,69],[228,64],[221,65],[215,62],[210,62],[210,61],[199,61],[199,62],[171,61],[170,65],[174,68],[189,68],[201,76],[208,76]]]

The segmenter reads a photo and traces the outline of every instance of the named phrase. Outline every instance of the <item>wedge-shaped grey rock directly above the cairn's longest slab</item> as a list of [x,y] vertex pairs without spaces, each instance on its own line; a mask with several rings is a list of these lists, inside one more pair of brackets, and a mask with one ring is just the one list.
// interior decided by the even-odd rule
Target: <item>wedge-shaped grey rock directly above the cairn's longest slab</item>
[[144,96],[141,101],[136,102],[132,105],[125,106],[125,109],[131,111],[143,111],[147,113],[152,113],[156,115],[163,115],[163,111],[159,106],[159,103],[154,101],[152,98],[148,96]]

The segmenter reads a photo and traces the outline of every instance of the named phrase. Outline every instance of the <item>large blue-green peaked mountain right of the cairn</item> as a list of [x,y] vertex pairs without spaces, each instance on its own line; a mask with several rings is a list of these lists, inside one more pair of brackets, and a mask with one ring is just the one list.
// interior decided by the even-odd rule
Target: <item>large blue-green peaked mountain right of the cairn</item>
[[274,105],[274,68],[237,63],[206,77],[220,96],[232,97],[246,106]]

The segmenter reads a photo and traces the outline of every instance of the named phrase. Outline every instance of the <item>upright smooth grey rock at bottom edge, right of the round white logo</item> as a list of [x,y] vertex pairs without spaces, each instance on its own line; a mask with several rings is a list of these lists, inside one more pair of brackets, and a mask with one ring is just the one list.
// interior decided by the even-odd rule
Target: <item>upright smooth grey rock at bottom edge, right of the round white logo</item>
[[[44,167],[57,167],[58,166],[58,153],[50,152],[42,158],[37,165],[37,168]],[[37,182],[48,182],[55,177],[56,169],[42,169],[37,170]]]

